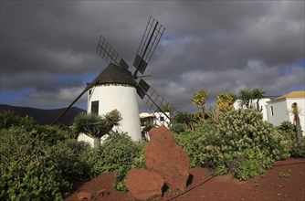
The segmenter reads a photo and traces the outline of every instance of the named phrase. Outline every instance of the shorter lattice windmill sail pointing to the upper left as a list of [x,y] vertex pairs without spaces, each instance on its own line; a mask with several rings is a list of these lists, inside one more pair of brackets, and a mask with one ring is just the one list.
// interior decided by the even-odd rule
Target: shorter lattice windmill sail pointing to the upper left
[[122,59],[114,48],[110,46],[107,40],[100,36],[100,41],[97,48],[97,53],[103,58],[107,63],[114,63],[121,66],[123,69],[128,69],[129,66],[124,59]]

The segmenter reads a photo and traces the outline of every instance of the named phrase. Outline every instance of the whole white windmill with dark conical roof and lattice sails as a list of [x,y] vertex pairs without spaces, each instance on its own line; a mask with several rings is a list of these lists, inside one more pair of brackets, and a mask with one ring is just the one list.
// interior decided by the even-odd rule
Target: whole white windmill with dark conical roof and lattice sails
[[[135,68],[133,73],[129,71],[129,65],[126,61],[120,57],[104,37],[100,36],[97,53],[109,63],[108,67],[89,82],[87,87],[70,103],[65,111],[59,114],[52,124],[58,122],[58,119],[87,91],[89,91],[88,112],[105,114],[117,109],[121,112],[122,117],[119,131],[121,129],[121,132],[128,132],[134,141],[142,139],[137,94],[150,110],[153,109],[163,113],[163,117],[165,117],[164,122],[166,122],[166,119],[173,120],[178,112],[174,107],[170,111],[163,111],[162,106],[169,103],[142,79],[142,77],[145,77],[143,73],[163,36],[164,29],[158,21],[152,16],[150,17],[137,55],[133,61],[133,67]],[[139,73],[142,76],[139,76]]]

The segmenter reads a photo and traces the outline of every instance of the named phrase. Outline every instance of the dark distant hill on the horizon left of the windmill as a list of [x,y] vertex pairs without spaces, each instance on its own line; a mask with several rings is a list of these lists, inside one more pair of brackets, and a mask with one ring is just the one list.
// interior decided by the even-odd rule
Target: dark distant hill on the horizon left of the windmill
[[[43,110],[37,108],[28,108],[28,107],[19,107],[12,105],[0,104],[0,111],[14,111],[20,116],[31,116],[39,124],[51,124],[61,111],[64,111],[65,108],[54,109],[54,110]],[[74,117],[84,110],[72,107],[61,119],[58,120],[58,123],[63,123],[66,125],[72,125]],[[84,111],[86,112],[86,111]]]

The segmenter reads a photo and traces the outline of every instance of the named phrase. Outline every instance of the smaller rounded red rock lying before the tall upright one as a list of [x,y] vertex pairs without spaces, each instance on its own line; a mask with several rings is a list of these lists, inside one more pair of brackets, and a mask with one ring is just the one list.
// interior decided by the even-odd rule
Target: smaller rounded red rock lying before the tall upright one
[[125,185],[134,198],[148,200],[162,196],[164,179],[161,175],[146,169],[132,168],[127,175]]

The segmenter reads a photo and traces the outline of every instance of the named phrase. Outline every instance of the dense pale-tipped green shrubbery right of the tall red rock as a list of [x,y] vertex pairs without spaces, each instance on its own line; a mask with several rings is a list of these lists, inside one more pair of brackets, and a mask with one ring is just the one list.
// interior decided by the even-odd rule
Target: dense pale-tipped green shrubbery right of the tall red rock
[[[245,91],[250,95],[246,96]],[[297,138],[296,125],[282,122],[275,127],[263,121],[258,101],[264,93],[261,89],[245,89],[239,97],[220,94],[215,109],[205,111],[209,116],[205,122],[199,121],[195,114],[181,112],[171,130],[177,143],[188,153],[190,166],[209,167],[216,175],[232,174],[246,180],[267,172],[274,161],[291,156],[304,158],[305,140]],[[206,98],[202,96],[203,100],[198,100],[203,103],[201,108]],[[237,98],[246,109],[234,110],[232,106]],[[250,107],[254,99],[257,100],[255,107]]]

